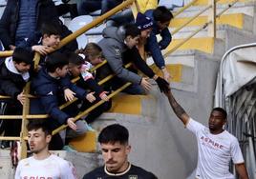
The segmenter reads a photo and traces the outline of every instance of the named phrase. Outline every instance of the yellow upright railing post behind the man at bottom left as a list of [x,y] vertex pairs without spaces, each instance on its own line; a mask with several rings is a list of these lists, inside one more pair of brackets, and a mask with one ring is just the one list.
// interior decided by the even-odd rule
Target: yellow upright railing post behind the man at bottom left
[[27,157],[27,142],[25,140],[25,136],[28,135],[28,130],[26,128],[28,124],[27,115],[30,112],[30,98],[28,97],[28,94],[30,93],[31,89],[31,83],[27,83],[24,94],[26,94],[25,103],[23,104],[22,108],[22,125],[21,125],[21,131],[20,131],[20,144],[21,144],[21,159]]

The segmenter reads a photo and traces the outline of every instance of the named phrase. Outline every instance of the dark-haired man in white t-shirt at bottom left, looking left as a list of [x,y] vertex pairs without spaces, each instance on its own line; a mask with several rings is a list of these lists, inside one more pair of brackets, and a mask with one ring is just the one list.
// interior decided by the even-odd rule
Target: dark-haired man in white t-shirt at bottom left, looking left
[[15,179],[75,179],[73,165],[49,152],[52,129],[45,121],[34,120],[27,126],[32,157],[21,160],[15,173]]

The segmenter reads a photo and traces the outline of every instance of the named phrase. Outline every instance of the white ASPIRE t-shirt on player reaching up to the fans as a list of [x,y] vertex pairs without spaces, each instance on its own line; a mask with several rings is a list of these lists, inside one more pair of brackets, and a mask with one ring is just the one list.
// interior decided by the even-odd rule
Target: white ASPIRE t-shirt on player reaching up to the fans
[[229,172],[229,162],[244,163],[238,140],[228,131],[211,134],[201,123],[189,119],[186,128],[192,131],[198,142],[198,167],[196,178],[199,179],[234,179]]

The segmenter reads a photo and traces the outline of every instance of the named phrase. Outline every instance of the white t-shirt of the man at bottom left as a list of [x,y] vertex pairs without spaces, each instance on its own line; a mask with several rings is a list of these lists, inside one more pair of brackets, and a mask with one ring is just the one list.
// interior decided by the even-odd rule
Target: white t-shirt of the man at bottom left
[[15,179],[75,179],[73,165],[51,154],[44,160],[29,157],[21,160],[15,173]]

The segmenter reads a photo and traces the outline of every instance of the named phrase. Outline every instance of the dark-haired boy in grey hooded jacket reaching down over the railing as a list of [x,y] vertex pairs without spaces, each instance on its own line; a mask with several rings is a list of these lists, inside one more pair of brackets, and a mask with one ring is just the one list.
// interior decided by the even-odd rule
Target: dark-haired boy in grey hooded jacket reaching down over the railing
[[[125,63],[132,62],[136,68],[141,70],[148,77],[153,78],[158,83],[160,90],[169,89],[169,84],[157,76],[151,70],[139,55],[136,46],[139,42],[140,30],[136,25],[127,24],[123,27],[108,27],[103,30],[103,39],[98,42],[103,55],[108,61],[110,68],[117,74],[117,86],[126,82],[132,82],[133,85],[124,89],[131,94],[144,94],[145,90],[151,88],[151,84],[145,77],[140,77],[136,71],[124,68]],[[113,84],[115,87],[115,84]]]

